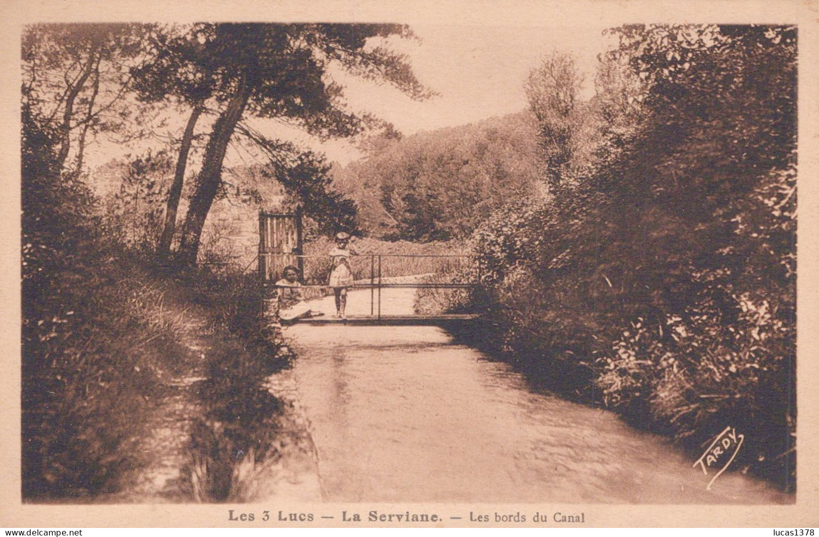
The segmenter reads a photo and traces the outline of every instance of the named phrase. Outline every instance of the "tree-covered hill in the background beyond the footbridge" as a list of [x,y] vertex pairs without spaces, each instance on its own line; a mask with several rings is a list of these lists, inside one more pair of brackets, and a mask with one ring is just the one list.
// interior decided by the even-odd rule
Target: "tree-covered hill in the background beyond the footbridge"
[[535,130],[532,115],[520,113],[386,138],[333,176],[369,235],[447,241],[473,232],[505,201],[538,192]]

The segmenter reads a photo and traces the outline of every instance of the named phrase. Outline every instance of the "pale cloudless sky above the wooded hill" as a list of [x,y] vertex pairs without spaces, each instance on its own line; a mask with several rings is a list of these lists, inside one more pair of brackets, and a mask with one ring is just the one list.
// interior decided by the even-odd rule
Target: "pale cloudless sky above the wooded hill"
[[[597,55],[608,38],[599,27],[411,25],[420,41],[391,39],[409,57],[415,74],[439,93],[414,102],[391,86],[337,77],[352,110],[369,111],[405,135],[484,120],[527,107],[523,82],[546,54],[570,52],[586,75],[584,97],[594,93]],[[346,164],[360,154],[344,140],[319,143],[277,124],[259,123],[265,133],[296,138],[328,160]]]

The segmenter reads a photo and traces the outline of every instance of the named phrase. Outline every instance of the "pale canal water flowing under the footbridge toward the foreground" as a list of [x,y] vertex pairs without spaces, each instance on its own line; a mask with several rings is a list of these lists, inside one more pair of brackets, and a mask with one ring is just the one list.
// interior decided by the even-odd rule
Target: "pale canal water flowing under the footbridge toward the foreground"
[[[413,289],[382,291],[412,314]],[[334,313],[333,297],[315,310]],[[348,314],[369,314],[369,291]],[[791,503],[726,472],[706,490],[690,455],[609,411],[531,386],[437,327],[296,324],[296,397],[310,423],[324,501]]]

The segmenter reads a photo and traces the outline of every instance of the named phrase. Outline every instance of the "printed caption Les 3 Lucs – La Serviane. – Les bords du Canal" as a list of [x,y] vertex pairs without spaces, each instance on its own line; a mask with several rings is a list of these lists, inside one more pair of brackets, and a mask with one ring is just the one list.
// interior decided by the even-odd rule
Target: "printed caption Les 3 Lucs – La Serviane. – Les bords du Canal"
[[233,522],[312,522],[317,520],[336,520],[342,522],[441,522],[446,520],[468,520],[473,522],[553,522],[583,524],[586,522],[585,512],[540,512],[523,513],[515,512],[474,512],[470,511],[468,517],[462,515],[441,516],[432,512],[381,512],[376,509],[367,512],[342,511],[340,513],[327,513],[317,515],[313,512],[292,512],[292,511],[270,511],[261,512],[241,512],[237,509],[228,511],[228,520]]

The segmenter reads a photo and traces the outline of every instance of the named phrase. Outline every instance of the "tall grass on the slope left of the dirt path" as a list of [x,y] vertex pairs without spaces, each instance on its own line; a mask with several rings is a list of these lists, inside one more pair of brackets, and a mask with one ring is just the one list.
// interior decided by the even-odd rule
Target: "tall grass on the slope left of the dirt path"
[[182,367],[186,349],[175,335],[185,318],[168,305],[170,286],[114,253],[62,271],[73,284],[55,290],[59,303],[25,307],[25,499],[116,490],[143,463],[135,445],[163,372]]

